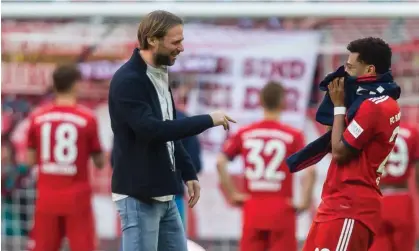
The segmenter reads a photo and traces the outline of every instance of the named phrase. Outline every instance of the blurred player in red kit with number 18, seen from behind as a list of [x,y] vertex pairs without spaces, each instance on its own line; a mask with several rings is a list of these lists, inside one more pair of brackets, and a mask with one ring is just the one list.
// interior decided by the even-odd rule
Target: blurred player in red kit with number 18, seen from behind
[[71,250],[93,251],[95,227],[88,180],[90,156],[104,166],[94,114],[76,103],[81,73],[75,66],[53,73],[56,94],[29,117],[28,161],[38,168],[31,249],[58,251],[64,237]]

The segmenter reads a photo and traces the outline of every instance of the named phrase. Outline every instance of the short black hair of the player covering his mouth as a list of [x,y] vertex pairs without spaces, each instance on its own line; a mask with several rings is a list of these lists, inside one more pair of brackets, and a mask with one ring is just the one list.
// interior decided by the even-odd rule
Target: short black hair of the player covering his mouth
[[359,53],[358,61],[375,66],[379,74],[386,73],[391,68],[391,48],[381,38],[366,37],[354,40],[347,46],[348,51]]

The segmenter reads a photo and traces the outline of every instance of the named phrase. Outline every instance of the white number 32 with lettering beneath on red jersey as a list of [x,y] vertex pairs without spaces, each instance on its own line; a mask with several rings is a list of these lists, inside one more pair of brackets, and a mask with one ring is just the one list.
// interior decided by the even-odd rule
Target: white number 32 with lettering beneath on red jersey
[[[252,191],[278,191],[281,181],[285,179],[285,172],[278,170],[281,166],[287,147],[284,142],[277,139],[264,141],[262,139],[246,139],[244,148],[249,149],[246,162],[245,177],[249,181]],[[265,163],[264,156],[272,156]]]

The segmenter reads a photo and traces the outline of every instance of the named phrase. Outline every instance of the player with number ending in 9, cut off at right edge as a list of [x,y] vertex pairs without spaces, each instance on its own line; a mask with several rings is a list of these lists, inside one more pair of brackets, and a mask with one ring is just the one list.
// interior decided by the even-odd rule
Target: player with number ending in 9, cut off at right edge
[[[414,168],[419,168],[419,132],[402,123],[381,177],[383,221],[370,251],[414,250],[415,213],[408,190],[408,179]],[[419,183],[418,170],[416,181]]]

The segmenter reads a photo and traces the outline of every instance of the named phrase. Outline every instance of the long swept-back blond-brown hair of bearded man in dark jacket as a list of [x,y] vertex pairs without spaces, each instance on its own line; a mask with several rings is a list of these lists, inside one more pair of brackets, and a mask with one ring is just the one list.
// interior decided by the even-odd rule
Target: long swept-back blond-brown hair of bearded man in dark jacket
[[183,25],[183,20],[175,14],[164,10],[150,12],[138,26],[137,38],[140,49],[149,49],[147,38],[161,39],[176,25]]

